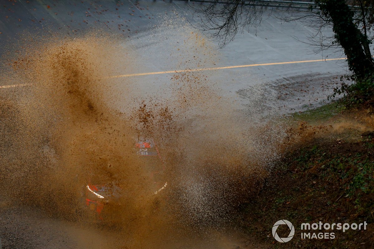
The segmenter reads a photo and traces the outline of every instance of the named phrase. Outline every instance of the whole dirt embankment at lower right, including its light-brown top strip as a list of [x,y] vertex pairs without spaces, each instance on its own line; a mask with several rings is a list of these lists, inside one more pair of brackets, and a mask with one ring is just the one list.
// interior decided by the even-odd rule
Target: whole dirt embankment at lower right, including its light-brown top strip
[[[291,129],[291,146],[267,179],[266,187],[243,210],[243,229],[263,248],[373,248],[374,116],[356,110],[331,117],[334,110],[329,110],[330,117],[326,117],[322,115],[326,108],[296,116],[298,126]],[[286,243],[277,242],[272,234],[273,225],[280,219],[295,227],[294,237]],[[366,221],[368,226],[367,230],[344,233],[300,229],[302,223],[319,221]],[[286,226],[276,231],[279,237],[287,237],[290,232]],[[301,238],[304,232],[334,232],[335,239]]]

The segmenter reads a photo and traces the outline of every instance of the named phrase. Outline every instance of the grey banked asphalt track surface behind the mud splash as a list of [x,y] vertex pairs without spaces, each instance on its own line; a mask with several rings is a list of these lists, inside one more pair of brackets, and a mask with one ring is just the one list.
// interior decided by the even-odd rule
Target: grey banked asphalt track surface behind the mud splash
[[[121,36],[124,43],[131,44],[134,54],[139,61],[142,61],[142,68],[137,68],[134,73],[185,69],[177,56],[171,54],[175,44],[185,39],[184,34],[174,31],[170,25],[174,21],[178,22],[178,25],[181,22],[197,24],[199,18],[193,14],[189,4],[191,2],[159,0],[2,1],[0,52],[3,54],[12,49],[16,41],[27,34],[58,33],[60,36],[77,37],[92,30],[102,30]],[[273,13],[278,11],[271,10]],[[176,13],[179,19],[184,18],[183,21],[175,19]],[[165,22],[168,22],[168,28],[155,31],[155,28],[165,26]],[[200,33],[192,27],[191,30]],[[158,40],[152,39],[156,32],[159,35]],[[331,32],[325,30],[326,34]],[[343,57],[341,52],[313,53],[315,47],[304,43],[308,42],[306,37],[312,33],[311,28],[305,27],[300,22],[282,23],[281,20],[266,14],[260,27],[249,28],[249,32],[246,30],[238,33],[233,42],[223,49],[214,51],[219,54],[217,56],[219,59],[214,64],[206,66],[227,67]],[[217,46],[217,43],[212,43],[213,46]],[[188,59],[188,56],[192,57],[193,54],[185,56]],[[121,73],[119,70],[118,74]],[[266,107],[260,109],[261,111],[266,109],[271,113],[281,109],[283,112],[298,111],[307,105],[315,106],[321,103],[321,100],[325,101],[332,87],[338,83],[336,80],[331,82],[331,79],[345,73],[347,68],[344,60],[334,60],[230,68],[216,70],[210,73],[209,77],[217,83],[216,86],[222,90],[223,96],[238,101],[242,104],[241,107],[253,106],[259,98],[263,102],[265,96]],[[320,83],[313,85],[316,77],[326,83],[323,92],[319,88]],[[152,89],[162,90],[163,86],[160,86],[160,82],[170,81],[170,75],[140,76],[133,80],[139,85],[147,82],[149,94]],[[293,85],[300,82],[312,82],[312,86],[306,89],[308,96],[300,94],[303,90],[292,89]],[[301,83],[301,88],[304,83]],[[284,84],[291,86],[291,90],[288,87],[282,88]],[[168,86],[165,87],[167,89]],[[282,93],[279,87],[285,91]],[[310,91],[313,87],[315,90]],[[140,90],[139,94],[144,92]],[[310,99],[314,99],[312,104]]]

